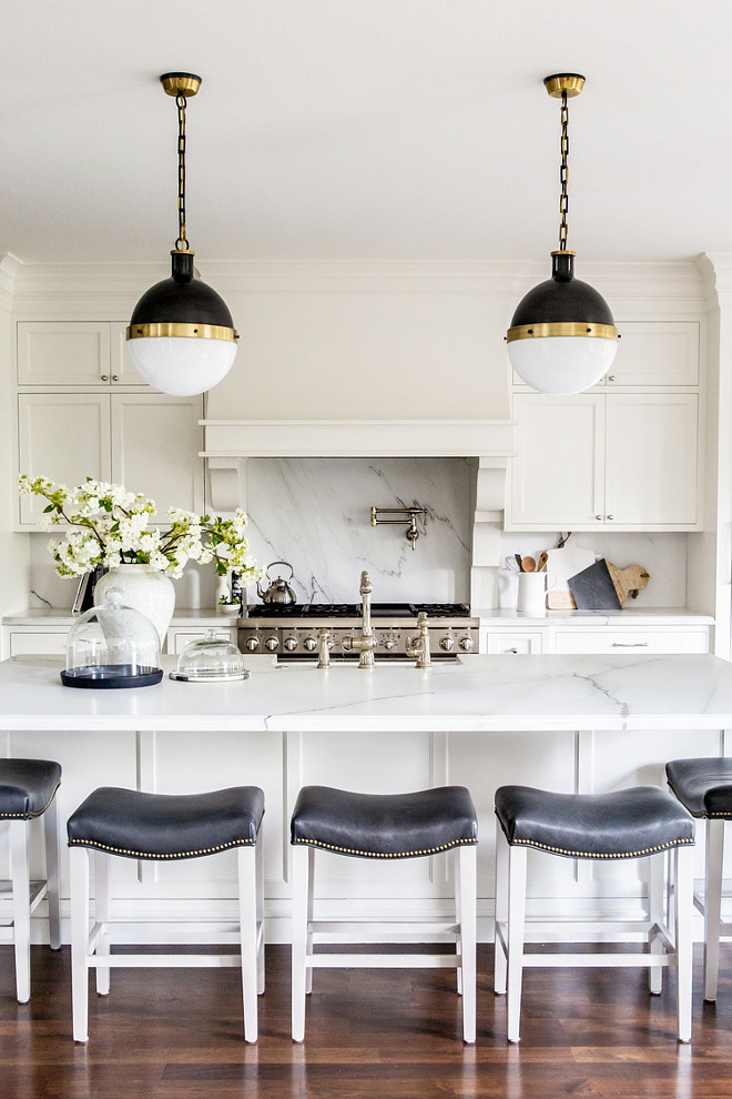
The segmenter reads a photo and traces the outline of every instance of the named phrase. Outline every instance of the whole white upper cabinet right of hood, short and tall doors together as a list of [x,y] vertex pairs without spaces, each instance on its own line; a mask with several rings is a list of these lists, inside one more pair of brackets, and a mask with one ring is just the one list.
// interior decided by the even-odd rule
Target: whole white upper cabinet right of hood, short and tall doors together
[[514,390],[506,525],[694,531],[700,514],[700,325],[618,322],[610,373],[586,393]]

